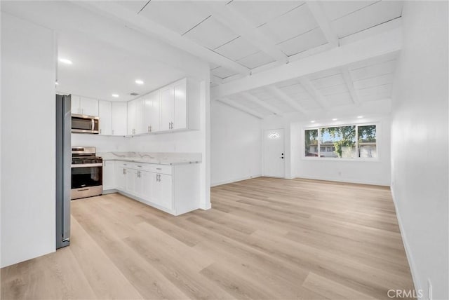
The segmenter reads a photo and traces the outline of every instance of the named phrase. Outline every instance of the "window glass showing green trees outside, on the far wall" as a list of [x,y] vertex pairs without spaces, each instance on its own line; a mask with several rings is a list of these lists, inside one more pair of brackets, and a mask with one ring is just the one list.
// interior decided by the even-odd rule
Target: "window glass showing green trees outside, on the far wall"
[[304,130],[304,155],[328,158],[377,157],[376,125]]

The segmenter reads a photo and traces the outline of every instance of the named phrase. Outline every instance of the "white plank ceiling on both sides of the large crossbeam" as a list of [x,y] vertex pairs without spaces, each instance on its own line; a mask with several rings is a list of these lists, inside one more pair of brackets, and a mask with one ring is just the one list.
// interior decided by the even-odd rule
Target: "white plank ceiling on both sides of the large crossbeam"
[[[401,1],[120,1],[143,18],[232,62],[210,63],[211,87],[338,46],[401,17]],[[259,118],[383,100],[397,54],[220,99]],[[233,68],[234,63],[241,69]]]

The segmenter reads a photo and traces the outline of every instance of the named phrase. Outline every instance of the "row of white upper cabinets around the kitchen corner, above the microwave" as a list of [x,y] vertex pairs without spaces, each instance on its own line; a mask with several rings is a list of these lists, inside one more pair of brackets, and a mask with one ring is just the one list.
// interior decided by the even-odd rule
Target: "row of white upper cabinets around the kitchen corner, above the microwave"
[[200,129],[200,86],[181,79],[130,102],[72,95],[72,114],[99,116],[100,135]]

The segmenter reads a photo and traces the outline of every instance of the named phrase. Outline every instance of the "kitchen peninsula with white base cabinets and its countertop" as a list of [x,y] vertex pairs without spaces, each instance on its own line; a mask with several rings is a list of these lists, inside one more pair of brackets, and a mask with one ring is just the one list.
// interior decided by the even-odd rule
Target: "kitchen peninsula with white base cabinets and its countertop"
[[173,215],[200,208],[201,153],[105,152],[103,193],[119,192]]

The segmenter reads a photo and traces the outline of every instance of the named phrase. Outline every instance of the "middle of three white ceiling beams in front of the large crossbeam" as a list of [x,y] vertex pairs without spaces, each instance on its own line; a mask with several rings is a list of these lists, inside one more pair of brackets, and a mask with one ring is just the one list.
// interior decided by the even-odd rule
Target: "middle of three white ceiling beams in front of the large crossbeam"
[[232,6],[224,5],[222,1],[200,1],[198,6],[205,5],[210,8],[209,11],[213,17],[222,22],[223,25],[232,29],[232,31],[243,36],[259,50],[264,51],[279,64],[288,63],[288,56],[283,53],[276,43],[262,34],[253,24],[248,22],[239,11]]

